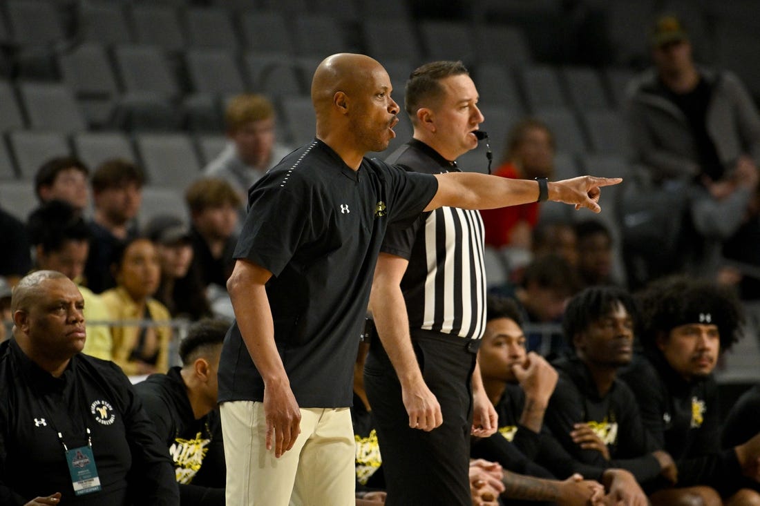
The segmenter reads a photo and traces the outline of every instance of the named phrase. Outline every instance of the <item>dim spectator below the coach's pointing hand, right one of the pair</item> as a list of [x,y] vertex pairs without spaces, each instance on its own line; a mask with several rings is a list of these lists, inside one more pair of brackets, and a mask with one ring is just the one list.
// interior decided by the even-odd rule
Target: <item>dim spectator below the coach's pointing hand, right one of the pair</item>
[[581,286],[615,285],[613,279],[613,236],[599,220],[575,223],[578,241],[578,278]]

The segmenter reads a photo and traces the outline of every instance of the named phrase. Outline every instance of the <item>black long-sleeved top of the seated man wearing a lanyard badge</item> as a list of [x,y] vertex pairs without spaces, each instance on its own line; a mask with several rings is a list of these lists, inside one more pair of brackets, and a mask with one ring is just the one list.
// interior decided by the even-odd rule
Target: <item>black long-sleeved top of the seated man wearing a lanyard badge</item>
[[[87,446],[100,492],[75,496],[65,451]],[[60,378],[15,340],[0,344],[0,504],[61,492],[61,504],[179,504],[174,471],[140,398],[112,362],[77,355]]]

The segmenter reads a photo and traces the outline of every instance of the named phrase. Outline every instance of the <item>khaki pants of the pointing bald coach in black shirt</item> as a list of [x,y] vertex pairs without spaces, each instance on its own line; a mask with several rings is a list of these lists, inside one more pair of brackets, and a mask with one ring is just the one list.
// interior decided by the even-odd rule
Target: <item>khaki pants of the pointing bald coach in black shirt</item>
[[301,433],[279,459],[267,451],[264,403],[221,405],[226,506],[351,506],[356,446],[349,408],[301,409]]

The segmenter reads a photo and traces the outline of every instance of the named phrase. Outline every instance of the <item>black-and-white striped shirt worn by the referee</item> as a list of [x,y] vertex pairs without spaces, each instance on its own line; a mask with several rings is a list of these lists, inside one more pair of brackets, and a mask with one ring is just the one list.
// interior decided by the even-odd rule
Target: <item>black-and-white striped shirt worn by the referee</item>
[[[413,172],[458,171],[431,147],[412,140],[387,163]],[[483,222],[477,210],[439,207],[407,229],[388,227],[382,251],[409,260],[401,280],[411,328],[480,339],[486,327]]]

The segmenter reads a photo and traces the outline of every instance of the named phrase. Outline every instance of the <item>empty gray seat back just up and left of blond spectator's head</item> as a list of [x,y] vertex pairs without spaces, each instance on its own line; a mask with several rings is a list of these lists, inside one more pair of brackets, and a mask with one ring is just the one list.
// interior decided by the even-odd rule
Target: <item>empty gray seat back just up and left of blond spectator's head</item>
[[241,93],[245,82],[240,65],[223,49],[188,49],[185,65],[192,89],[198,93]]

